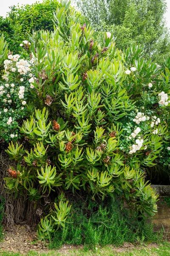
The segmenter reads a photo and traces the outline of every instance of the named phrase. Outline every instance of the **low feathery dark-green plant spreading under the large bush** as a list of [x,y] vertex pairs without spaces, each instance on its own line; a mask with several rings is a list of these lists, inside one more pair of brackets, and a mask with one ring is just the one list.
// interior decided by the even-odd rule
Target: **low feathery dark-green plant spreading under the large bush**
[[118,198],[109,197],[105,201],[79,198],[69,201],[71,214],[63,230],[57,230],[50,248],[62,244],[84,244],[93,248],[96,245],[121,245],[124,242],[158,241],[161,233],[154,233],[152,224],[143,217],[130,215],[128,209],[121,209]]

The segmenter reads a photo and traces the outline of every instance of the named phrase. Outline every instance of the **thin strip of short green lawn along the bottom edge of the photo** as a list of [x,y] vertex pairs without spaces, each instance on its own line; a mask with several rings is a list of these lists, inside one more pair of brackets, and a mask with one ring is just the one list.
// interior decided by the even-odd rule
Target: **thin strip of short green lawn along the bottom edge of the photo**
[[[142,247],[142,249],[141,249]],[[170,243],[164,243],[164,245],[158,245],[158,247],[152,248],[150,246],[140,246],[140,249],[136,247],[134,250],[125,252],[114,252],[112,247],[105,247],[97,249],[96,251],[85,250],[72,250],[67,253],[37,253],[31,251],[25,254],[26,256],[170,256]],[[21,256],[20,253],[0,252],[0,256]]]

